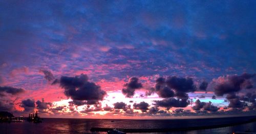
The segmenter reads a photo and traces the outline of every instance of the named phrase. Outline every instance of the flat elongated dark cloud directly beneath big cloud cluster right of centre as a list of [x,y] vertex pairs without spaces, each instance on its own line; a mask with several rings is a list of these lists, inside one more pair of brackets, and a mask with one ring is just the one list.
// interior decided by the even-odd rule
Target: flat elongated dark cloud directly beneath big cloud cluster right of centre
[[186,99],[175,99],[175,98],[168,98],[163,99],[160,101],[155,101],[156,106],[161,107],[186,107],[189,105],[189,101]]

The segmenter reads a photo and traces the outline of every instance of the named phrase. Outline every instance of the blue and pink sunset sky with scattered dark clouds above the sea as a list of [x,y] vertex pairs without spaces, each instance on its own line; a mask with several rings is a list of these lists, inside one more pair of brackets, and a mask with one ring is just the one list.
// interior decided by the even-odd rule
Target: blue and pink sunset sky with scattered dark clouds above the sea
[[253,114],[255,1],[1,1],[0,110]]

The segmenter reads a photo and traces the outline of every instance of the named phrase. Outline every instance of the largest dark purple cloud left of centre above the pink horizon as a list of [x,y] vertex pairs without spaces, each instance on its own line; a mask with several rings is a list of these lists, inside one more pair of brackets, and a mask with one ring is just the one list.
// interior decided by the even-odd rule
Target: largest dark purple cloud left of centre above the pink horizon
[[106,92],[99,85],[88,81],[88,76],[81,74],[75,77],[62,76],[59,80],[60,86],[65,89],[64,94],[73,100],[90,101],[95,104],[103,100]]

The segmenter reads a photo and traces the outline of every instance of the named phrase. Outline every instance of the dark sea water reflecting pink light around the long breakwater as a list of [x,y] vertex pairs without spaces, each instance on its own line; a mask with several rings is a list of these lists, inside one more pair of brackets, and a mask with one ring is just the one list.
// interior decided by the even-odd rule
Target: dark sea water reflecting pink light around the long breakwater
[[[99,119],[45,119],[35,124],[27,121],[19,123],[0,123],[0,133],[106,133],[91,132],[92,127],[103,128],[184,128],[195,126],[229,124],[241,122],[251,117],[212,118],[212,119],[170,119],[170,120],[99,120]],[[152,132],[152,133],[232,133],[233,131],[256,132],[256,122],[236,126],[193,131]]]

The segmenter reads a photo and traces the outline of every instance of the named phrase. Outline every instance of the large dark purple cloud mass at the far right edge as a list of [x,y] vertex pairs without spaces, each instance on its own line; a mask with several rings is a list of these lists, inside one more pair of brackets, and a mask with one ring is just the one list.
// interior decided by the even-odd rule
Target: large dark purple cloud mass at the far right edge
[[219,77],[215,80],[214,92],[217,96],[223,96],[224,94],[239,92],[242,88],[252,88],[251,83],[248,83],[248,81],[254,76],[255,74],[244,73],[242,75]]

